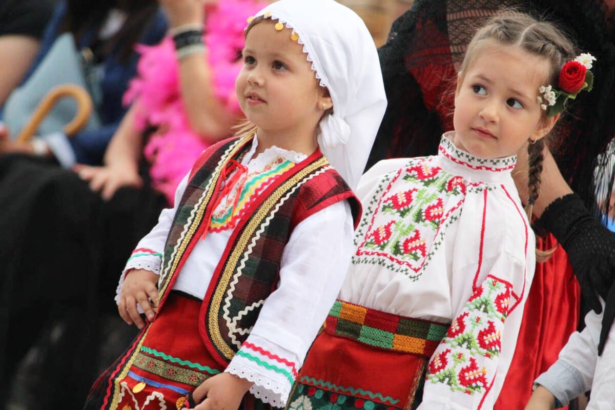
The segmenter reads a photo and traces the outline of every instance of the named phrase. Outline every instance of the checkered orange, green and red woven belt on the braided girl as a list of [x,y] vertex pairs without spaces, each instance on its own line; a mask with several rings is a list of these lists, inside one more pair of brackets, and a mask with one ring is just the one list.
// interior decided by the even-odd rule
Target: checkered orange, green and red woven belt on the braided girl
[[449,326],[338,300],[331,307],[325,331],[381,349],[431,357]]

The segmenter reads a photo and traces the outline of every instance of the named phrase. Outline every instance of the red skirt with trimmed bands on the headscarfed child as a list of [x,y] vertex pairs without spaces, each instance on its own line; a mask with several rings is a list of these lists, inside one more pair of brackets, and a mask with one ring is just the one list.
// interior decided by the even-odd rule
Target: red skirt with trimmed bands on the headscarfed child
[[95,382],[87,409],[179,409],[188,393],[224,371],[199,335],[201,301],[171,293],[164,309]]

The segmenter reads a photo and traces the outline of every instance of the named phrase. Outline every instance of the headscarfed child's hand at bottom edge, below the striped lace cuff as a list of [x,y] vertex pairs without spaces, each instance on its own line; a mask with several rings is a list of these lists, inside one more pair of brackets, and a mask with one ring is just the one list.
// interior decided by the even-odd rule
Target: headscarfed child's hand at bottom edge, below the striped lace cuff
[[237,410],[253,383],[231,373],[220,373],[205,380],[194,390],[195,410]]

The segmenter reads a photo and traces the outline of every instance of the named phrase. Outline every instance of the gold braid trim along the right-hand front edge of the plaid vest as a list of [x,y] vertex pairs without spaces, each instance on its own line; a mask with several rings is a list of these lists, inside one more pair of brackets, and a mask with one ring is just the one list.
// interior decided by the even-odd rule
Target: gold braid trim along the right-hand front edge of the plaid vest
[[271,209],[276,206],[280,198],[288,191],[293,189],[293,187],[300,184],[300,181],[306,178],[306,176],[319,168],[325,167],[326,165],[328,165],[327,158],[320,157],[320,159],[312,162],[312,164],[309,164],[307,167],[303,168],[303,170],[298,171],[298,173],[296,173],[292,178],[288,179],[288,181],[282,184],[282,186],[278,187],[276,191],[272,192],[272,194],[264,200],[258,210],[256,210],[255,215],[250,219],[239,239],[235,242],[231,254],[224,265],[224,272],[221,275],[220,281],[218,282],[218,285],[216,285],[216,290],[212,295],[212,300],[210,301],[210,306],[208,307],[207,319],[208,329],[212,337],[213,344],[228,360],[231,360],[231,358],[235,355],[235,352],[231,349],[231,347],[229,347],[228,344],[226,344],[226,342],[224,342],[224,339],[220,334],[218,312],[220,312],[220,305],[222,304],[224,292],[226,291],[226,288],[228,288],[228,284],[235,271],[239,257],[244,254],[248,240],[250,240],[250,237],[252,237],[254,231],[256,231],[256,228],[263,223],[263,219],[266,218],[266,216],[271,212]]

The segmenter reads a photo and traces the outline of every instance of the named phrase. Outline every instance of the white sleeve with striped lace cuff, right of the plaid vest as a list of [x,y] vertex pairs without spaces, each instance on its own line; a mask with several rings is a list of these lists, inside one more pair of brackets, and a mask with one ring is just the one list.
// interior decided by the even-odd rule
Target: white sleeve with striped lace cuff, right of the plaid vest
[[333,306],[351,260],[352,214],[346,201],[304,219],[285,246],[278,288],[227,372],[254,382],[250,393],[284,407],[309,346]]

